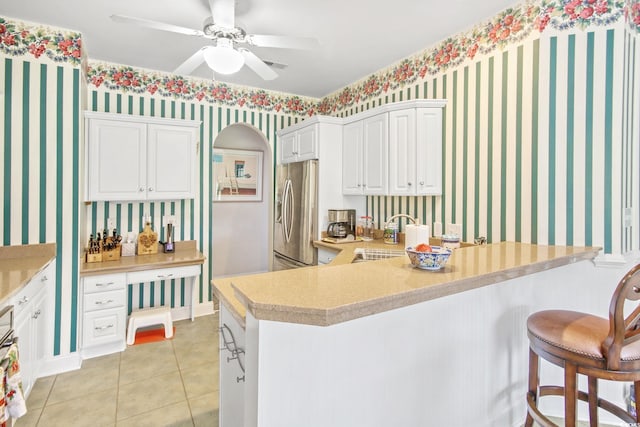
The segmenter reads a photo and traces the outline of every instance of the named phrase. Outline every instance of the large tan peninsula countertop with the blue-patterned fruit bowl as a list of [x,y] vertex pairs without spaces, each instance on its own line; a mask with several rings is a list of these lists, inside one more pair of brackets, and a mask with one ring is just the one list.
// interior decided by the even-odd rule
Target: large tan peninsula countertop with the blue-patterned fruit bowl
[[442,270],[431,272],[414,268],[406,256],[351,263],[356,247],[401,245],[314,244],[340,253],[329,265],[214,279],[213,292],[243,326],[246,309],[257,319],[329,326],[590,260],[600,251],[516,242],[472,245],[454,250]]

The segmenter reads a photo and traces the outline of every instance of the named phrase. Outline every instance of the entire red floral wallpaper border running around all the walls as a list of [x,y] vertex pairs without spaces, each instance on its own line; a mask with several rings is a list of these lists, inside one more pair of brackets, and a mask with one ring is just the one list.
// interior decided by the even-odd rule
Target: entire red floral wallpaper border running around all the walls
[[[406,58],[365,77],[321,100],[226,84],[184,78],[163,72],[90,61],[86,69],[90,85],[129,93],[294,115],[336,114],[367,99],[379,97],[473,60],[478,54],[519,42],[532,32],[548,28],[559,31],[608,26],[624,17],[631,31],[640,34],[640,0],[539,0],[509,8],[467,33],[447,38],[435,47]],[[0,17],[0,51],[11,56],[46,55],[57,62],[81,64],[81,35],[46,27],[33,27]]]

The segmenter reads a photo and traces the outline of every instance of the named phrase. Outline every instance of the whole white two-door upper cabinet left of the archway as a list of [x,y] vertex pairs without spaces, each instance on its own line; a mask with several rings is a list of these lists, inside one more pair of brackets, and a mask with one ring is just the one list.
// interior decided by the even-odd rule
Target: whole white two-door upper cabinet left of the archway
[[86,112],[86,200],[195,197],[200,122]]

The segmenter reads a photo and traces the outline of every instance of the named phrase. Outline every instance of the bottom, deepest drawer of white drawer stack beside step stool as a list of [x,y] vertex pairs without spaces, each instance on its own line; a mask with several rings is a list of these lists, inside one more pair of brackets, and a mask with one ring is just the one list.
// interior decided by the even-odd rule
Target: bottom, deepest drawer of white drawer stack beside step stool
[[105,344],[113,341],[124,341],[125,310],[112,308],[85,313],[83,322],[83,346]]

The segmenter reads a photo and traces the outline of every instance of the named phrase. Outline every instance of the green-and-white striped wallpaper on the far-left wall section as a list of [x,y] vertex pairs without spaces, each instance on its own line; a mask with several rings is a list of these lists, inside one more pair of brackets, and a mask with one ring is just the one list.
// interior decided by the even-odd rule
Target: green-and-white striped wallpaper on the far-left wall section
[[0,241],[56,242],[54,353],[76,350],[80,119],[79,67],[0,61],[4,148],[0,151]]

